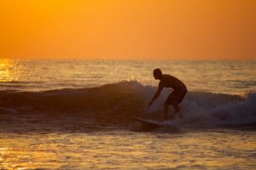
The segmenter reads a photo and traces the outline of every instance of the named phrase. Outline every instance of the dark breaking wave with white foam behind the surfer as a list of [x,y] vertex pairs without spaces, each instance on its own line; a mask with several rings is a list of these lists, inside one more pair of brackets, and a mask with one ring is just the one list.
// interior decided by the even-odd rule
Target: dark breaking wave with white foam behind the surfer
[[[144,86],[137,81],[117,82],[96,88],[64,88],[40,92],[3,90],[0,91],[0,113],[4,116],[79,115],[115,123],[131,122],[130,116],[159,119],[163,103],[171,91],[165,89],[154,105],[145,110],[155,90],[155,87]],[[184,117],[170,124],[189,127],[256,124],[255,92],[244,96],[189,92],[180,108]]]

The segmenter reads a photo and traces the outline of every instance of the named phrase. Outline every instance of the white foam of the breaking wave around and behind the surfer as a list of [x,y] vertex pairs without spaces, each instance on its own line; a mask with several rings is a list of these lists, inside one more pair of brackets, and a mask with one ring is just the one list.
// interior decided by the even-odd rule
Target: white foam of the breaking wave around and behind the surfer
[[[156,88],[147,89],[146,96],[151,99]],[[151,94],[151,95],[150,95]],[[152,114],[163,114],[163,103],[170,94],[164,91],[147,110]],[[170,106],[169,114],[173,112]],[[219,126],[248,125],[256,123],[256,93],[247,94],[245,98],[230,94],[212,94],[191,92],[180,105],[183,118],[168,122],[170,125],[183,126]]]

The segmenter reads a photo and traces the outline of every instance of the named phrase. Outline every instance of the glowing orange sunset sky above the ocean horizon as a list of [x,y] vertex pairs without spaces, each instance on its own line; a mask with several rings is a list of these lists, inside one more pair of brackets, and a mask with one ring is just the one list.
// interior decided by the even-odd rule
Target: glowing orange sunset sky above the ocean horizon
[[0,58],[256,59],[255,0],[1,0]]

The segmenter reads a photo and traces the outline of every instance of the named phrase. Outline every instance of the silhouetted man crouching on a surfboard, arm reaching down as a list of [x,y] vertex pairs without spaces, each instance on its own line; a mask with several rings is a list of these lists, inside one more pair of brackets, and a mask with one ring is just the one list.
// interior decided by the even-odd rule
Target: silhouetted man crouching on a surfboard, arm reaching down
[[[163,88],[172,88],[172,93],[168,96],[164,103],[164,120],[168,120],[168,109],[169,105],[174,107],[175,113],[172,114],[171,119],[174,119],[176,115],[182,116],[179,112],[178,105],[183,101],[185,94],[187,93],[187,88],[183,82],[177,79],[177,77],[172,77],[171,75],[162,74],[162,71],[157,68],[154,69],[153,75],[155,80],[160,80],[156,93],[153,98],[149,101],[148,107],[153,104],[154,100],[160,95]],[[148,108],[147,107],[147,108]]]

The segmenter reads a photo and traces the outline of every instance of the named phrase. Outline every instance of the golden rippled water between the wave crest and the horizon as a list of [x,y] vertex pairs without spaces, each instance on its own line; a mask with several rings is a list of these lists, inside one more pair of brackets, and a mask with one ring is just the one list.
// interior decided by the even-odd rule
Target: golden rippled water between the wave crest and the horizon
[[88,88],[136,79],[157,86],[154,68],[180,78],[189,90],[243,94],[256,89],[256,61],[0,60],[0,90]]

